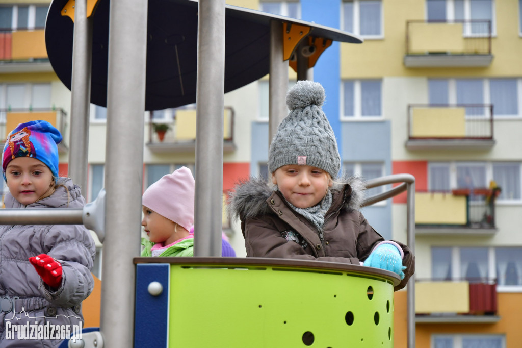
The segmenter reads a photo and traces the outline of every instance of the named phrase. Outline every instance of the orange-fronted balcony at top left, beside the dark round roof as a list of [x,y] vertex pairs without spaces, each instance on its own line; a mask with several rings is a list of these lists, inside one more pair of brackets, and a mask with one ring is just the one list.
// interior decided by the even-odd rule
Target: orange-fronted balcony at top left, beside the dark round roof
[[0,73],[52,72],[44,29],[0,31]]

